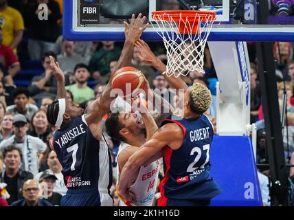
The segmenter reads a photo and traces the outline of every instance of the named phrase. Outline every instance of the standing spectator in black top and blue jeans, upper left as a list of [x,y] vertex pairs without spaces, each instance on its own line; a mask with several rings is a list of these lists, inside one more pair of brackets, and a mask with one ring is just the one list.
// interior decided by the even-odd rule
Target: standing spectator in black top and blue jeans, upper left
[[[43,13],[39,9],[38,5],[45,3],[48,8],[48,18],[39,19],[39,14]],[[47,51],[51,51],[54,47],[54,43],[60,35],[59,27],[57,24],[58,19],[61,19],[60,8],[58,3],[53,0],[36,0],[34,3],[30,3],[27,7],[27,28],[30,30],[29,41],[27,42],[27,48],[30,54],[30,58],[41,59],[43,54]]]

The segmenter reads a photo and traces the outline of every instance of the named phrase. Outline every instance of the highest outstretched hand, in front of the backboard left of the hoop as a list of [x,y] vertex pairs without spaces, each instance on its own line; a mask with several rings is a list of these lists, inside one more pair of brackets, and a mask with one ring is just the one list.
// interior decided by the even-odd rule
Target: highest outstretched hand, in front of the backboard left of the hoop
[[133,14],[130,25],[126,23],[126,21],[124,21],[124,27],[125,27],[124,35],[126,37],[126,40],[135,43],[140,38],[144,30],[148,28],[149,23],[146,23],[146,25],[144,25],[144,21],[146,20],[146,17],[145,16],[143,18],[141,17],[142,17],[142,14],[140,13],[137,19],[135,19],[135,14]]

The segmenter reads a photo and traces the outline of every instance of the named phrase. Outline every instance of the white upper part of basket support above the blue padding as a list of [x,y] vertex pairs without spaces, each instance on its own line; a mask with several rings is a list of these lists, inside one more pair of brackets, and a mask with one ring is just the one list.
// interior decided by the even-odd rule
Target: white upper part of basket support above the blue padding
[[219,135],[249,135],[250,63],[246,42],[209,41],[216,69],[216,123]]

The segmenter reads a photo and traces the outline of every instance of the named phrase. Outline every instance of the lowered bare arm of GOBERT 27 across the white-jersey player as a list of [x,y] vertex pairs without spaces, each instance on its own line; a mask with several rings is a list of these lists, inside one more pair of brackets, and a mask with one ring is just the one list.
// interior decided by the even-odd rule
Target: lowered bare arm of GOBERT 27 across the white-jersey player
[[140,166],[150,163],[150,158],[161,153],[165,146],[179,148],[183,143],[183,130],[177,124],[165,124],[129,159],[120,173],[118,192],[120,197],[131,201],[128,187],[131,186],[131,178]]

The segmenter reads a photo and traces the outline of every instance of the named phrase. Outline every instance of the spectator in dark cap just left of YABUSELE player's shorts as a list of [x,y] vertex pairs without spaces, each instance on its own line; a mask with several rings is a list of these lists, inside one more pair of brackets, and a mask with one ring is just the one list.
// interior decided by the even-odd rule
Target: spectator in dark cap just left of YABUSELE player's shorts
[[52,206],[60,206],[60,200],[62,197],[58,192],[53,192],[56,180],[57,177],[52,170],[45,170],[39,179],[41,185],[41,198],[45,201],[49,201]]

